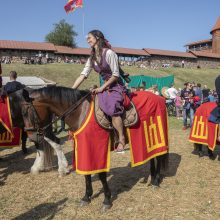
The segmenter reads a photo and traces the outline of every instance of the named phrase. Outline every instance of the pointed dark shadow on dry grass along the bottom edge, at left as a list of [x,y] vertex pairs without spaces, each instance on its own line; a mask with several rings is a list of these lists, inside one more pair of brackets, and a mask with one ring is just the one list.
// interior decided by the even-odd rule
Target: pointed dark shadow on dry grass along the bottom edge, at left
[[29,219],[53,219],[56,213],[62,210],[65,206],[65,203],[68,199],[62,199],[56,203],[43,203],[40,204],[33,209],[25,212],[15,218],[13,220],[29,220]]

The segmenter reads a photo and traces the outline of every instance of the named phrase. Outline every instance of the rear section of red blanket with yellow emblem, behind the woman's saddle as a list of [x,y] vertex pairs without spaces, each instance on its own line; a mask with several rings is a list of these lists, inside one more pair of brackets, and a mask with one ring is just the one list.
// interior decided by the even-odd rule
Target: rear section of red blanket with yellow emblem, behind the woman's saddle
[[168,123],[165,99],[151,92],[132,95],[139,122],[127,129],[131,148],[131,166],[168,153]]

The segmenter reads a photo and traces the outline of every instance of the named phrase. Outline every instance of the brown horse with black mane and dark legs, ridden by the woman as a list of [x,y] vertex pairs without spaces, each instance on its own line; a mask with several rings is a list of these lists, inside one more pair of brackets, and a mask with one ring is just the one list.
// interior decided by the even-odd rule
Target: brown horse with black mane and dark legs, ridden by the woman
[[[64,87],[48,87],[43,89],[34,90],[30,94],[30,98],[33,99],[34,106],[44,106],[42,108],[42,115],[46,115],[45,112],[50,111],[58,116],[62,116],[68,108],[70,108],[75,103],[79,103],[74,111],[70,112],[65,117],[65,122],[68,124],[72,131],[79,129],[84,122],[87,113],[90,109],[90,102],[92,96],[89,91],[80,91]],[[41,117],[41,120],[46,120]],[[28,127],[35,127],[29,120],[29,116],[26,115],[25,124]],[[31,134],[28,134],[31,138]],[[151,184],[154,186],[159,186],[161,182],[161,168],[166,165],[168,154],[157,156],[155,159],[150,160],[150,171],[151,171]],[[99,173],[99,178],[102,182],[104,189],[104,209],[111,207],[111,191],[109,189],[106,172]],[[82,198],[82,204],[88,204],[91,201],[91,196],[93,194],[91,175],[85,175],[86,192],[85,196]]]

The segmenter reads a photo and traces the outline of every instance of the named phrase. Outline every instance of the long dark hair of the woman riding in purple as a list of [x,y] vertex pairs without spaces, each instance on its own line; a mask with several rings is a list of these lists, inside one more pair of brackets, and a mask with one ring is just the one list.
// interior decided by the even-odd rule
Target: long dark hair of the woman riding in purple
[[[97,40],[97,46],[98,46],[98,52],[99,52],[99,55],[101,56],[102,55],[102,51],[104,48],[108,48],[110,49],[111,48],[111,45],[108,43],[108,41],[105,39],[105,36],[104,34],[99,31],[99,30],[93,30],[93,31],[90,31],[88,34],[91,34],[93,35],[96,40]],[[92,64],[94,65],[94,62],[96,61],[97,63],[99,63],[97,61],[97,58],[96,58],[96,53],[95,53],[95,48],[93,47],[92,48],[92,51],[91,51],[91,61],[92,61]]]

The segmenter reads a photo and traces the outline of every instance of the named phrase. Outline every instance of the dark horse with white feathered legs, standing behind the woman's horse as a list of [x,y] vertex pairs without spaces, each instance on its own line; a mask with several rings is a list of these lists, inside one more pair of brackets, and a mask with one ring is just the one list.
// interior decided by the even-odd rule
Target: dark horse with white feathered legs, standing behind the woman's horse
[[[29,98],[29,92],[26,89],[18,90],[14,93],[9,94],[9,103],[10,103],[10,111],[11,118],[14,127],[19,127],[24,129],[24,120],[23,116],[31,112],[30,116],[33,117],[33,120],[36,121],[39,126],[44,126],[45,124],[49,124],[52,121],[52,114],[49,111],[44,111],[45,114],[42,115],[41,108],[32,106],[32,100]],[[33,111],[34,109],[34,111]],[[40,117],[38,117],[38,115]],[[44,121],[42,122],[41,117],[43,117]],[[1,129],[0,129],[1,130]],[[0,131],[1,132],[1,131]],[[59,143],[59,139],[53,134],[52,126],[49,126],[45,130],[45,136],[50,138],[56,143]],[[24,148],[26,143],[26,137],[22,137],[22,149]],[[50,170],[53,167],[53,149],[51,145],[48,144],[43,138],[38,135],[32,137],[32,141],[35,143],[37,149],[37,155],[33,166],[31,167],[31,172],[34,174],[39,173],[40,171]],[[62,149],[55,149],[58,154],[58,163],[59,163],[59,173],[63,175],[68,173],[67,169],[67,161],[64,157]]]

